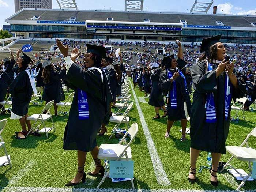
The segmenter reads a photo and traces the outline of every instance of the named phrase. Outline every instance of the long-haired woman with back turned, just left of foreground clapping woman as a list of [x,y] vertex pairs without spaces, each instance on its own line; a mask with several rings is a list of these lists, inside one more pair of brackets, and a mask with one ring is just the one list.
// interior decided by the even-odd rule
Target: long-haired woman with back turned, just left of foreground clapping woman
[[57,71],[50,61],[45,61],[42,65],[44,68],[42,71],[42,78],[44,80],[44,92],[42,99],[46,101],[46,104],[54,100],[54,113],[57,115],[58,106],[56,103],[65,100],[65,95],[61,85],[61,79],[64,79],[66,74],[65,66],[61,71]]

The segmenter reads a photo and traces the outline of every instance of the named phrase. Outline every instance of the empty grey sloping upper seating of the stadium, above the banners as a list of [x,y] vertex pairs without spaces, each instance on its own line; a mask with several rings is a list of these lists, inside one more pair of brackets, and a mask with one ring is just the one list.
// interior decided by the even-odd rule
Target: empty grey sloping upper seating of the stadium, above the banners
[[31,20],[33,16],[40,16],[40,20],[67,21],[70,17],[76,17],[76,21],[102,20],[113,18],[113,21],[143,22],[149,19],[154,23],[180,23],[186,20],[188,25],[212,25],[221,21],[225,26],[252,27],[256,23],[253,15],[219,15],[219,14],[195,14],[177,12],[141,12],[141,11],[102,11],[102,10],[49,10],[49,9],[22,9],[5,20],[10,24],[15,21]]

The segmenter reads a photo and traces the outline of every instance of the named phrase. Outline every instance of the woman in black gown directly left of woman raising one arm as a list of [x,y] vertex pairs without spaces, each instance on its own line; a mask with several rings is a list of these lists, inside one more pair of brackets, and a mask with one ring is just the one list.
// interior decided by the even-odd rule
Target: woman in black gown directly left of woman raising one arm
[[167,116],[165,102],[163,101],[163,97],[165,96],[165,94],[159,87],[159,77],[164,68],[165,68],[164,64],[160,63],[158,68],[154,69],[153,74],[151,74],[152,90],[149,96],[148,104],[155,107],[155,117],[153,117],[153,119],[160,118],[160,114],[159,114],[160,107],[163,108],[163,111],[165,113],[162,117]]

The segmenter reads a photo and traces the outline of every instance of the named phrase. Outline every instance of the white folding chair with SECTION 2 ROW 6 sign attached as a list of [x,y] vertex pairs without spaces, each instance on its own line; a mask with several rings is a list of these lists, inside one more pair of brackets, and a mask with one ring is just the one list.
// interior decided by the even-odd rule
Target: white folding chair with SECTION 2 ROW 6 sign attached
[[[103,165],[103,167],[105,168],[104,176],[101,182],[99,182],[96,189],[98,189],[101,186],[101,184],[104,182],[106,177],[108,177],[109,175],[109,171],[107,171],[107,167],[109,165],[110,160],[111,161],[131,161],[132,160],[132,151],[131,151],[130,145],[135,139],[135,136],[138,133],[138,129],[139,129],[138,124],[133,123],[118,144],[101,144],[101,146],[99,146],[98,158],[106,160],[106,162]],[[131,140],[127,144],[125,138],[128,134],[131,136]],[[123,142],[125,143],[125,145],[122,145]],[[104,153],[105,150],[113,150],[114,154]],[[134,189],[133,178],[131,178],[131,182],[132,182],[132,188]]]

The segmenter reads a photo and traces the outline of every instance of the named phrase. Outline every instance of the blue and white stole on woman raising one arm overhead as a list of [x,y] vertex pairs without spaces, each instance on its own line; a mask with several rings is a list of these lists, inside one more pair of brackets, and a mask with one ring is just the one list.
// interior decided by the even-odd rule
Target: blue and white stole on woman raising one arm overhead
[[[172,78],[172,76],[173,76],[172,72],[168,71],[168,69],[166,69],[166,71],[167,71],[168,79]],[[184,79],[185,90],[186,90],[186,93],[188,93],[186,78],[180,70],[178,70],[178,72],[179,72],[180,76]],[[171,108],[177,108],[177,90],[176,90],[175,80],[173,80],[172,89],[169,91],[169,99],[171,101]]]

